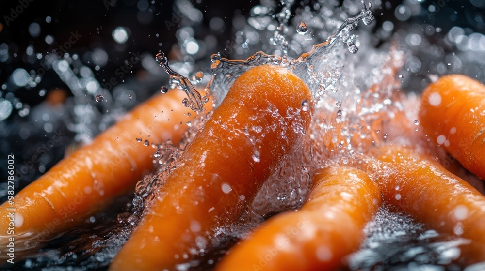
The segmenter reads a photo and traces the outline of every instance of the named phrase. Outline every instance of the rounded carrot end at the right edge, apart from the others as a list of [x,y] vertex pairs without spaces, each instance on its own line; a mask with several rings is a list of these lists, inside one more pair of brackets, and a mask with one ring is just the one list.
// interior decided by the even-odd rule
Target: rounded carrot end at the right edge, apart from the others
[[465,168],[485,179],[485,87],[465,75],[446,75],[423,92],[420,124]]

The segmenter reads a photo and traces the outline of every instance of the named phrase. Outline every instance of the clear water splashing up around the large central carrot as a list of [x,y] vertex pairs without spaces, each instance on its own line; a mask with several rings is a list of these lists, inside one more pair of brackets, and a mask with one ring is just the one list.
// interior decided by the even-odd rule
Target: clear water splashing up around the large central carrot
[[[220,238],[221,242],[231,238],[241,238],[253,226],[271,215],[301,207],[309,190],[311,174],[318,168],[336,163],[336,160],[345,164],[365,163],[363,153],[366,147],[365,144],[359,145],[358,141],[356,143],[354,140],[356,136],[359,137],[360,142],[371,141],[373,144],[392,139],[388,138],[388,131],[383,130],[379,121],[390,119],[396,112],[403,111],[405,106],[397,90],[400,89],[401,84],[411,85],[406,80],[413,77],[408,75],[418,65],[418,61],[413,59],[409,52],[398,49],[397,45],[386,45],[384,48],[375,49],[371,45],[371,34],[366,32],[365,28],[362,30],[356,28],[360,21],[365,25],[372,24],[372,6],[370,3],[366,5],[363,0],[359,4],[347,3],[343,6],[339,6],[335,1],[319,1],[312,8],[297,7],[298,12],[293,17],[293,22],[297,23],[295,27],[289,26],[291,10],[296,5],[295,1],[283,1],[279,12],[276,12],[275,7],[270,3],[262,2],[262,5],[252,9],[252,16],[248,18],[247,26],[236,33],[236,37],[241,38],[241,42],[238,40],[234,45],[230,45],[235,46],[232,58],[243,60],[230,60],[229,56],[221,53],[211,56],[211,80],[206,88],[207,95],[216,106],[224,99],[227,90],[239,75],[254,66],[272,64],[286,67],[301,77],[311,89],[317,106],[314,120],[302,142],[303,147],[289,152],[276,172],[263,184],[250,208],[241,217],[241,222],[244,224],[220,229],[217,238]],[[354,32],[356,34],[352,34]],[[271,38],[267,40],[255,38],[259,36]],[[450,35],[449,39],[452,43],[460,43],[457,36],[458,34]],[[469,36],[471,39],[471,35]],[[189,38],[193,39],[193,37]],[[325,42],[316,44],[317,39]],[[416,39],[410,37],[409,42],[414,44]],[[261,40],[260,43],[259,40]],[[255,51],[251,50],[255,48],[262,51],[251,55],[251,52]],[[189,80],[169,66],[168,59],[163,53],[157,54],[156,60],[170,75],[170,85],[178,87],[187,94],[187,98],[182,103],[198,111],[199,115],[203,110],[203,104],[207,103],[209,98],[202,97],[191,82],[194,84],[202,82],[204,74],[197,73]],[[52,61],[55,64],[54,70],[68,83],[73,93],[83,97],[85,91],[77,87],[76,78],[65,72],[66,69],[62,66],[65,64],[64,60],[56,58]],[[450,61],[451,68],[459,62],[456,58],[451,58]],[[61,72],[59,66],[62,66],[64,72]],[[405,75],[396,76],[403,67],[407,71]],[[436,69],[440,71],[439,74],[443,74],[442,67],[438,66]],[[93,101],[93,97],[98,93],[102,93],[108,100],[113,100],[110,98],[110,93],[100,92],[99,89],[90,90],[90,101]],[[163,86],[160,91],[165,93],[168,88]],[[97,98],[95,99],[98,101]],[[99,103],[101,106],[103,104],[106,103]],[[308,108],[307,104],[302,103],[302,110],[305,108]],[[96,119],[96,114],[96,110],[93,110],[89,118]],[[106,266],[123,242],[129,238],[133,227],[143,217],[144,212],[162,193],[160,188],[164,180],[179,166],[178,158],[182,155],[185,146],[193,140],[196,132],[210,118],[210,115],[211,112],[200,114],[190,125],[187,123],[189,129],[185,132],[180,145],[175,146],[170,141],[157,145],[157,152],[154,155],[157,171],[147,175],[137,184],[133,203],[128,205],[132,208],[131,212],[127,210],[117,217],[121,224],[100,229],[97,237],[89,239],[88,242],[93,244],[94,252],[85,253],[84,247],[79,243],[72,244],[77,245],[78,249],[68,249],[71,252],[65,254],[61,251],[56,255],[49,255],[49,250],[44,251],[43,260],[39,260],[37,265],[42,266],[49,260],[56,261],[58,264],[72,263],[76,262],[75,257],[83,255],[84,268]],[[412,115],[408,116],[410,120],[416,120],[416,112],[410,115]],[[418,124],[419,121],[416,125]],[[255,133],[260,133],[257,127],[252,128]],[[81,130],[82,127],[79,125],[76,131]],[[85,136],[89,137],[89,135]],[[142,139],[136,140],[142,142]],[[142,144],[147,146],[149,142]],[[258,162],[258,159],[259,154],[255,152],[253,160]],[[409,217],[389,211],[389,208],[379,211],[376,219],[366,228],[366,235],[367,239],[361,249],[350,258],[349,267],[352,270],[373,270],[372,267],[378,265],[396,270],[405,266],[412,267],[412,264],[442,267],[446,265],[443,262],[449,260],[449,258],[443,258],[443,255],[455,256],[456,248],[466,243],[464,240],[450,241],[446,236],[438,236],[436,232],[424,229],[423,225],[412,221]],[[403,239],[403,235],[407,238]],[[105,238],[101,238],[102,236]],[[388,243],[389,238],[403,243],[399,251],[389,249],[391,247]],[[443,253],[446,250],[451,252]],[[398,264],[392,262],[401,253],[405,254],[399,258],[401,262]],[[211,267],[216,261],[217,256],[214,256],[207,261],[207,264]],[[45,266],[55,265],[52,262],[45,264]],[[30,262],[25,262],[25,267],[35,267],[35,262],[30,259]]]

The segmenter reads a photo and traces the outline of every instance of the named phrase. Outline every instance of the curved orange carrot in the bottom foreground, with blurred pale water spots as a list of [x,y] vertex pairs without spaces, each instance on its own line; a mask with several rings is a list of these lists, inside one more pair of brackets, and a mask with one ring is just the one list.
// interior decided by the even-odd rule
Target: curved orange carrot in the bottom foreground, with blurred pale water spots
[[303,207],[270,218],[223,257],[216,271],[336,270],[357,250],[381,194],[362,170],[335,166],[312,178]]

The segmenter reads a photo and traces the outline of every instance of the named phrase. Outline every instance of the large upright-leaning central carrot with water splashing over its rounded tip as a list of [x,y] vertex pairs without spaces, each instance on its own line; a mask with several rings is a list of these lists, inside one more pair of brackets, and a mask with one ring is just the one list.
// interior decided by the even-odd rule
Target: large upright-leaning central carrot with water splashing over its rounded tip
[[180,157],[110,270],[174,270],[234,222],[311,118],[311,92],[282,67],[242,74]]

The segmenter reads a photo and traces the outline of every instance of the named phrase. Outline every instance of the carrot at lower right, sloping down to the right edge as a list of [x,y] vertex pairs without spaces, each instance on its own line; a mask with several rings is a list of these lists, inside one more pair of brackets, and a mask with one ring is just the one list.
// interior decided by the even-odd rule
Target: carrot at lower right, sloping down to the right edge
[[485,197],[443,166],[406,147],[383,147],[376,179],[384,200],[431,228],[472,240],[466,264],[485,260]]

